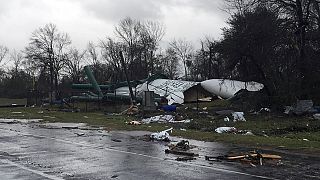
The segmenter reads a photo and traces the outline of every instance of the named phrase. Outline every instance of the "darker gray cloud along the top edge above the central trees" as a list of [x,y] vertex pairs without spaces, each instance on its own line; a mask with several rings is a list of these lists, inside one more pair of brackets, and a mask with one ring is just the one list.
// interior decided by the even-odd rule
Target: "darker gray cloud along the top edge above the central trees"
[[157,19],[164,17],[162,8],[189,7],[196,12],[225,17],[223,0],[83,0],[83,7],[98,18],[119,21],[124,17]]

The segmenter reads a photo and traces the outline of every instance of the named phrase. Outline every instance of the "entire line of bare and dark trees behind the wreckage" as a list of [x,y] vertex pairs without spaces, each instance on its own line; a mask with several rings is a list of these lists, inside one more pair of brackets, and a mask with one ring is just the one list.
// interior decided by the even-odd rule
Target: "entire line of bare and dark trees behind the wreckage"
[[[257,81],[265,85],[265,93],[274,101],[319,101],[319,1],[225,2],[224,10],[231,16],[222,38],[204,37],[200,48],[194,48],[187,39],[172,40],[163,48],[163,24],[128,17],[115,25],[112,36],[89,42],[80,50],[72,46],[67,33],[47,24],[32,33],[21,52],[0,46],[0,60],[9,59],[14,64],[11,69],[1,68],[0,91],[5,95],[13,93],[12,89],[37,89],[62,96],[71,83],[86,81],[82,71],[85,65],[91,65],[101,84],[124,81],[125,65],[131,80],[161,73],[192,81]],[[125,64],[120,61],[120,52]],[[14,88],[16,83],[21,88]],[[18,94],[23,93],[10,96]]]

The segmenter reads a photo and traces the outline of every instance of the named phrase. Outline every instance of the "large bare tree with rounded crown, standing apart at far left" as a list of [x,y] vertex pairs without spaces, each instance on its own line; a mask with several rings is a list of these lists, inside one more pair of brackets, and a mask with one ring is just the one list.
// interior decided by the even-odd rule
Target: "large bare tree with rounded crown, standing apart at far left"
[[45,72],[49,67],[50,94],[58,90],[59,71],[67,60],[67,47],[71,44],[68,34],[58,31],[56,25],[47,24],[32,33],[25,49],[29,64]]

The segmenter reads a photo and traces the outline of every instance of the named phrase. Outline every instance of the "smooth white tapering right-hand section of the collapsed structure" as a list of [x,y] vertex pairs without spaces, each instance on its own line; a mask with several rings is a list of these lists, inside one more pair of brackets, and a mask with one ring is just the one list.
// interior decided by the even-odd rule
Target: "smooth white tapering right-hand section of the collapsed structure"
[[263,84],[257,82],[242,82],[229,79],[210,79],[201,82],[201,86],[210,93],[221,98],[231,98],[241,89],[248,91],[259,91],[263,89]]

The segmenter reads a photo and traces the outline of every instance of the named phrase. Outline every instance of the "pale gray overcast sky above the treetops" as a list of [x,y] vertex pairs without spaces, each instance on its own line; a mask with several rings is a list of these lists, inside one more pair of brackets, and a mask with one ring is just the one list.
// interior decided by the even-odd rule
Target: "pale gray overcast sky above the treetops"
[[206,35],[221,37],[228,18],[222,7],[223,0],[0,0],[0,45],[22,50],[34,30],[54,23],[83,49],[88,41],[114,36],[125,17],[162,22],[164,42],[199,43]]

